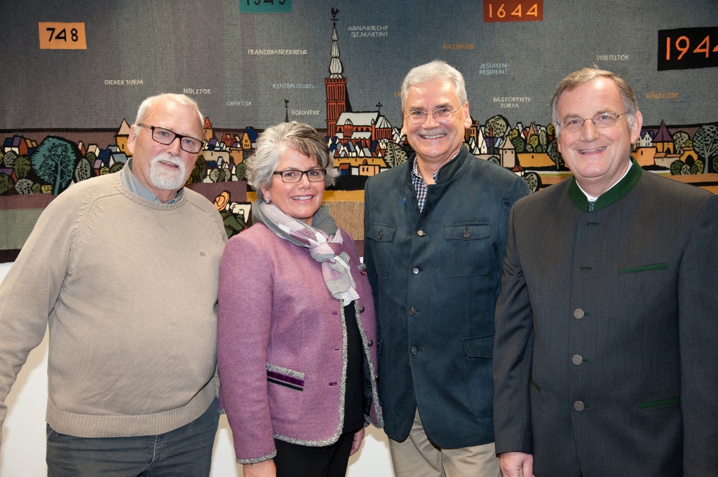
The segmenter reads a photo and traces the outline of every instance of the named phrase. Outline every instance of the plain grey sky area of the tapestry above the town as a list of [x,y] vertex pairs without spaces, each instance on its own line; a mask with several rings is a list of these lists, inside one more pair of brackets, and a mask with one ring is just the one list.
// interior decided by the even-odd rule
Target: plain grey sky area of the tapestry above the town
[[[381,102],[393,126],[401,126],[394,92],[402,78],[435,58],[464,73],[472,116],[481,123],[503,114],[512,124],[548,124],[559,80],[594,63],[628,80],[645,124],[718,120],[715,68],[656,70],[658,30],[718,26],[714,0],[546,0],[544,21],[514,23],[484,23],[477,0],[294,0],[292,13],[275,14],[241,14],[240,1],[246,0],[2,0],[0,129],[115,128],[123,118],[132,122],[146,96],[184,88],[211,90],[193,96],[216,127],[283,121],[286,98],[290,111],[320,111],[290,113],[291,119],[326,128],[332,8],[340,10],[337,33],[353,109],[376,110]],[[85,22],[88,48],[39,49],[37,22]],[[349,31],[372,25],[388,27],[386,37],[355,38]],[[443,48],[452,43],[473,49]],[[248,55],[248,49],[306,49],[307,55]],[[508,63],[508,74],[480,75],[482,63]],[[143,84],[105,84],[120,79]],[[284,82],[314,89],[272,88]],[[679,98],[647,100],[651,92]],[[493,98],[503,96],[531,101],[502,109]]]

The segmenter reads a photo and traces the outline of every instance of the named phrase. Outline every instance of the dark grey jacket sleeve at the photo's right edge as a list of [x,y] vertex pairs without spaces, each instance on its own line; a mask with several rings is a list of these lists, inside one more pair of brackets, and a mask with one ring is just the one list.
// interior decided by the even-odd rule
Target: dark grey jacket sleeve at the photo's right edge
[[684,476],[718,470],[718,196],[697,214],[679,269]]

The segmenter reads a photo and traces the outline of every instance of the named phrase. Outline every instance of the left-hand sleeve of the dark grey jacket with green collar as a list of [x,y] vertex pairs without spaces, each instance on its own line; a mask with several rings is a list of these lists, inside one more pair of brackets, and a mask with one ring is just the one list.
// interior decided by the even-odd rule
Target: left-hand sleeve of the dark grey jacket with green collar
[[516,250],[516,209],[508,219],[508,245],[501,293],[496,303],[493,353],[494,435],[496,453],[533,452],[529,379],[533,352],[533,315]]

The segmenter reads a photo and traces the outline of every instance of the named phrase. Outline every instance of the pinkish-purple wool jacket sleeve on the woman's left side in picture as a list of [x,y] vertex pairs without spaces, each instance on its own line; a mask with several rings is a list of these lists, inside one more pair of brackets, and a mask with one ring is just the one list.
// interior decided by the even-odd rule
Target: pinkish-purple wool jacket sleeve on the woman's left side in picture
[[274,285],[261,244],[248,235],[232,237],[225,247],[218,307],[220,394],[238,463],[276,455],[266,375]]

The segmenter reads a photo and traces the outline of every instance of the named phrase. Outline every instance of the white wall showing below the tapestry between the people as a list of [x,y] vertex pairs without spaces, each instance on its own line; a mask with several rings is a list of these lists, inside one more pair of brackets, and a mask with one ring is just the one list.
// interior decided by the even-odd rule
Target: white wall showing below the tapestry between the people
[[[0,281],[11,263],[0,264]],[[0,330],[0,333],[2,331]],[[5,400],[9,407],[0,448],[0,476],[47,476],[45,465],[45,407],[47,405],[47,334],[29,354]],[[232,433],[227,417],[220,417],[215,438],[212,477],[242,476],[235,463]],[[386,435],[373,426],[367,429],[361,450],[349,460],[348,477],[393,477]]]

